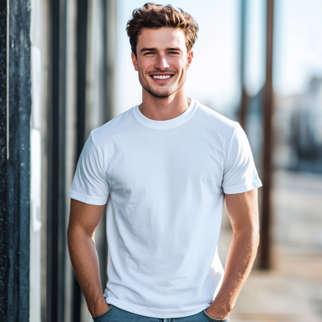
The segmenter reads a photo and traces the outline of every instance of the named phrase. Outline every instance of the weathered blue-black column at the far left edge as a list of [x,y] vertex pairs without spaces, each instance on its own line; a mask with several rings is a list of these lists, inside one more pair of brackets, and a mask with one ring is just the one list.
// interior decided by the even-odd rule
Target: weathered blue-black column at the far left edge
[[[6,47],[6,9],[7,3],[2,1],[0,4],[0,314],[2,321],[28,321],[31,113],[29,1],[10,0],[9,52]],[[8,88],[7,54],[9,55]],[[7,115],[7,90],[9,115]],[[9,117],[9,151],[7,117]]]

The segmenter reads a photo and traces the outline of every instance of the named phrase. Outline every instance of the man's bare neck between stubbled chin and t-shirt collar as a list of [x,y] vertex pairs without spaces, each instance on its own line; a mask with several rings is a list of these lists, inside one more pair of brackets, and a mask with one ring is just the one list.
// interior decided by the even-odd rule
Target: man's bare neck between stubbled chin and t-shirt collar
[[182,86],[168,97],[155,97],[143,89],[140,112],[149,119],[166,121],[181,115],[190,104],[191,100],[185,96],[185,88]]

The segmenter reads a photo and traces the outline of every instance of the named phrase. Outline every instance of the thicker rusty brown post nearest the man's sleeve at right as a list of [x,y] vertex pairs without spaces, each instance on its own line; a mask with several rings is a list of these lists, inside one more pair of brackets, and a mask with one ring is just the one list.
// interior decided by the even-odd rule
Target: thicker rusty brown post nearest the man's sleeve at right
[[270,186],[271,186],[271,123],[272,123],[272,61],[273,61],[273,13],[274,0],[267,0],[266,29],[266,81],[264,86],[264,151],[263,151],[263,199],[261,220],[260,268],[270,268]]

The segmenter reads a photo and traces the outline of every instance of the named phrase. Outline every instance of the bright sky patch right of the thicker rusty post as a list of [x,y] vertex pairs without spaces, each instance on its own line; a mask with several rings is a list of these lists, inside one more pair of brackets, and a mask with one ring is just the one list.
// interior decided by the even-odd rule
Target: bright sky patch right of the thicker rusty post
[[304,92],[312,76],[322,77],[322,1],[275,3],[275,89],[281,95]]

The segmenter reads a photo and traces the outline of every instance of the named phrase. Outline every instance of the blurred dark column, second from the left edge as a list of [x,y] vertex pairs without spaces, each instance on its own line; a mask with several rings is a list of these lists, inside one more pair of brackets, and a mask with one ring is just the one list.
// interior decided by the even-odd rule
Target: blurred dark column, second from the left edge
[[66,1],[50,1],[51,68],[48,106],[47,322],[64,321]]

